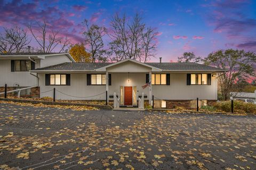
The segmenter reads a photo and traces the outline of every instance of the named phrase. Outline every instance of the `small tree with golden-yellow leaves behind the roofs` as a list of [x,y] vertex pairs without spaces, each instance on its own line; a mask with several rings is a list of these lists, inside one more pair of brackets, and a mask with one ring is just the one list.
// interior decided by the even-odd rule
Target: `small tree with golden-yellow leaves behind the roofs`
[[91,54],[86,52],[83,43],[71,45],[69,49],[69,54],[74,58],[76,62],[92,62]]

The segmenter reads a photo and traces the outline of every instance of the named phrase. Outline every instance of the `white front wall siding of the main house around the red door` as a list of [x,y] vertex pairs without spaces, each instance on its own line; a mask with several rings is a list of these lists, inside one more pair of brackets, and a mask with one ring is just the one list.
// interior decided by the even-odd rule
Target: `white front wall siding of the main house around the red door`
[[[71,74],[71,86],[45,86],[45,74],[39,75],[40,91],[52,90],[54,87],[71,96],[93,96],[98,95],[101,92],[106,91],[106,86],[87,86],[86,74],[76,73]],[[160,99],[169,100],[190,100],[197,97],[201,100],[217,100],[217,80],[212,77],[211,86],[209,85],[190,85],[187,86],[187,77],[185,73],[171,73],[170,74],[170,86],[167,85],[153,85],[152,94]],[[111,86],[109,86],[109,95],[113,95],[114,92],[120,96],[120,86],[137,86],[137,99],[138,95],[144,92],[145,95],[149,95],[149,87],[142,89],[146,83],[146,73],[130,73],[130,82],[128,82],[128,73],[111,73]],[[76,98],[70,97],[57,92],[57,99],[73,99],[73,100],[105,100],[106,94],[102,94],[97,97],[91,98]],[[50,96],[53,97],[53,91],[41,94],[41,97]],[[149,97],[149,96],[148,96]],[[148,99],[148,98],[147,98]]]

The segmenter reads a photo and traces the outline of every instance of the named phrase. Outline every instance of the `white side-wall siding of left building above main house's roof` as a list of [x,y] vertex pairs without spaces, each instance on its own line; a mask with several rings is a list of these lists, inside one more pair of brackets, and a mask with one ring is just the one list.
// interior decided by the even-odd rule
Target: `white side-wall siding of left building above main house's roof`
[[72,62],[66,55],[46,56],[45,59],[41,61],[41,67],[47,67],[66,62]]

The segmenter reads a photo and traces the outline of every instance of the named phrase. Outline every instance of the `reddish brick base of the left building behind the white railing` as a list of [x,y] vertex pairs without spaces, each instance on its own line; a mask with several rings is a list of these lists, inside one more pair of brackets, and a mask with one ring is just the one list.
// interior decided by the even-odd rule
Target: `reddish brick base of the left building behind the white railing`
[[[19,87],[19,88],[25,88],[25,87]],[[7,91],[15,90],[17,87],[7,87]],[[4,92],[4,87],[0,87],[0,92]],[[30,94],[29,95],[20,95],[20,97],[39,97],[40,94],[40,88],[39,87],[34,87],[30,89]],[[8,96],[17,96],[17,93],[11,92],[7,94]],[[0,95],[0,97],[4,97],[3,95]]]

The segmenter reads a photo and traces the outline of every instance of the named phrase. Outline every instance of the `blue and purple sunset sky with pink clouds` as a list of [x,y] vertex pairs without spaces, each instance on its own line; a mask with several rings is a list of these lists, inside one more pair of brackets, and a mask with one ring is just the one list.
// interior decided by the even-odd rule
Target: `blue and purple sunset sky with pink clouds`
[[[184,52],[205,57],[219,49],[256,52],[256,1],[3,1],[0,0],[0,33],[3,28],[46,21],[59,36],[72,43],[84,41],[84,19],[109,28],[115,13],[131,18],[138,12],[157,31],[157,54],[150,62],[175,62]],[[106,42],[107,38],[105,40]],[[37,46],[31,41],[31,46]]]

